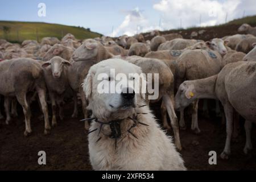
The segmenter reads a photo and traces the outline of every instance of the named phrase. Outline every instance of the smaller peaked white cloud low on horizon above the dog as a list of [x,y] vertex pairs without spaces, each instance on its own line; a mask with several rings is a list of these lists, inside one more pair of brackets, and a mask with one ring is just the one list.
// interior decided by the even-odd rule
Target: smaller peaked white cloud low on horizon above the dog
[[139,32],[147,32],[154,29],[160,29],[158,26],[150,26],[148,19],[146,19],[142,10],[139,10],[139,7],[136,7],[134,10],[126,11],[127,15],[123,22],[113,30],[110,36],[119,36],[119,35],[135,35]]

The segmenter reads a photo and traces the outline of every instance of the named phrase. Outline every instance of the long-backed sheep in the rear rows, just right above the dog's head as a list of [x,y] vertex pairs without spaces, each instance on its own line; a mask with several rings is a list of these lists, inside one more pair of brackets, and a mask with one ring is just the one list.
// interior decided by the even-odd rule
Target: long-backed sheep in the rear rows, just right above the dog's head
[[171,41],[167,41],[165,43],[160,44],[158,47],[158,51],[161,50],[181,50],[192,46],[193,44],[197,43],[198,41],[195,39],[173,39]]

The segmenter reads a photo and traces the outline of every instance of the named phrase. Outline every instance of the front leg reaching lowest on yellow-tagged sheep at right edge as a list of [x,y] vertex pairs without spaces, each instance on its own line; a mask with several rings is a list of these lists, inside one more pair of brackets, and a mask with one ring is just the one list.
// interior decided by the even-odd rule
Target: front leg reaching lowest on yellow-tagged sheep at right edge
[[226,143],[224,151],[221,153],[222,159],[228,159],[230,155],[230,142],[233,131],[233,107],[229,103],[224,105],[224,111],[226,116]]

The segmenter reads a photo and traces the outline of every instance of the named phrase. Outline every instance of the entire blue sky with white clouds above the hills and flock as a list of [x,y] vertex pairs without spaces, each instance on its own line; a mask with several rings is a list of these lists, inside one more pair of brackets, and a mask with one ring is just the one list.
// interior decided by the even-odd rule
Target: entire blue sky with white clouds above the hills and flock
[[[39,3],[46,16],[39,16]],[[104,35],[213,26],[256,14],[256,0],[0,0],[0,20],[82,26]]]

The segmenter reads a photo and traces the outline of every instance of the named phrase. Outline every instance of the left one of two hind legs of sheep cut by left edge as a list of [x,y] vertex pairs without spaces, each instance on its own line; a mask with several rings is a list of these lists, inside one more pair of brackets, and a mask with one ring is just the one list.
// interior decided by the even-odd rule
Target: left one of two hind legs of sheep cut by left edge
[[30,106],[27,103],[27,97],[26,97],[26,92],[19,92],[16,94],[16,98],[19,102],[19,104],[23,108],[23,113],[25,117],[25,126],[26,130],[24,131],[25,137],[30,135],[32,133],[31,126],[30,126],[30,118],[31,118],[31,111],[30,111]]

